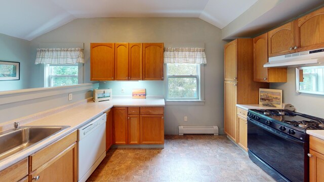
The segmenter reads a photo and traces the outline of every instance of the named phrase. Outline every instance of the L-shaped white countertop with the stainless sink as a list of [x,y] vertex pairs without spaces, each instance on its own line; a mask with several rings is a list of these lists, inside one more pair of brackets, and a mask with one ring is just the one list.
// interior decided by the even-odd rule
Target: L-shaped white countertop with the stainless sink
[[75,131],[77,128],[85,125],[94,118],[98,117],[108,109],[115,107],[164,107],[164,99],[113,99],[112,101],[103,102],[88,102],[71,109],[51,114],[42,119],[32,121],[25,126],[59,126],[68,125],[69,128],[52,135],[48,139],[30,147],[27,150],[17,152],[0,161],[0,171],[9,167],[10,165],[26,158],[36,151],[50,145],[51,143],[63,138],[67,134]]

